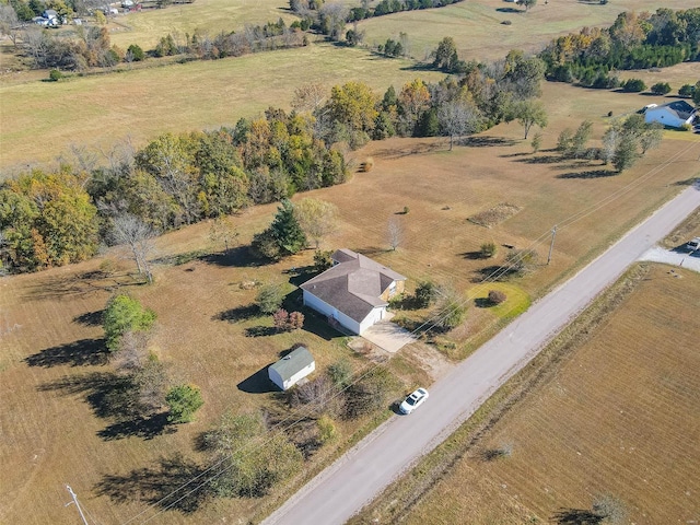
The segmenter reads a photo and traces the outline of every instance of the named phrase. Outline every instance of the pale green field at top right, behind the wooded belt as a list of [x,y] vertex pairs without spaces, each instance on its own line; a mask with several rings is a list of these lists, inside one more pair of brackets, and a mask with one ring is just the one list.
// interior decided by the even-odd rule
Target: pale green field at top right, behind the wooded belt
[[[622,11],[655,11],[658,8],[689,9],[687,0],[618,0],[598,2],[575,0],[539,0],[527,13],[503,0],[468,0],[445,8],[395,13],[369,19],[359,24],[365,32],[364,43],[384,44],[406,33],[410,55],[423,60],[445,36],[455,39],[459,58],[492,60],[511,49],[538,51],[551,38],[584,26],[607,26]],[[511,25],[502,22],[511,21]]]

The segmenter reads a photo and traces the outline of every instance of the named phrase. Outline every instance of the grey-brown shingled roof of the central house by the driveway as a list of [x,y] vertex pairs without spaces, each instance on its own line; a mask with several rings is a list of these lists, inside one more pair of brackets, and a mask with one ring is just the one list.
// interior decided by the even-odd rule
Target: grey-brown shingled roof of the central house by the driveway
[[400,273],[351,249],[332,254],[336,266],[302,284],[353,320],[361,323],[372,310],[386,306],[381,295],[394,281],[405,281]]

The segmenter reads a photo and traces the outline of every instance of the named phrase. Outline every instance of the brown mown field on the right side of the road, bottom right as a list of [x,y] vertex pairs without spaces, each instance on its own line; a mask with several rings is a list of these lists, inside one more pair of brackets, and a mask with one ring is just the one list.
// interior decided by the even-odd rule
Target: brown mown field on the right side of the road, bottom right
[[[700,276],[669,270],[653,266],[405,523],[557,523],[561,512],[584,515],[600,495],[626,509],[621,523],[697,522]],[[504,444],[511,457],[479,454]]]

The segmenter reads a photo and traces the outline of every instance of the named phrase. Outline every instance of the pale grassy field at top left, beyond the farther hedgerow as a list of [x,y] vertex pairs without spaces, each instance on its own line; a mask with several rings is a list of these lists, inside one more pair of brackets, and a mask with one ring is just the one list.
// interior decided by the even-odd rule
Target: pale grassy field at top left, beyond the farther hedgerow
[[299,20],[280,0],[197,0],[192,3],[152,9],[110,19],[110,39],[122,48],[138,44],[152,49],[168,33],[173,36],[195,33],[217,35],[240,31],[246,24],[265,25],[284,20],[287,25]]

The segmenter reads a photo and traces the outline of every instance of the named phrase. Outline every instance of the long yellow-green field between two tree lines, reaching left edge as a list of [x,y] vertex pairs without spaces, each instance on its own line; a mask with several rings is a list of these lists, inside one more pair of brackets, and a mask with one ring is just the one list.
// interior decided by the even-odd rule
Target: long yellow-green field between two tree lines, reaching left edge
[[166,131],[233,126],[270,106],[290,108],[294,89],[319,82],[330,89],[351,80],[383,93],[420,75],[408,60],[362,49],[312,45],[240,58],[197,61],[67,82],[0,86],[0,167],[54,160],[71,144],[108,150],[129,138],[137,147]]

